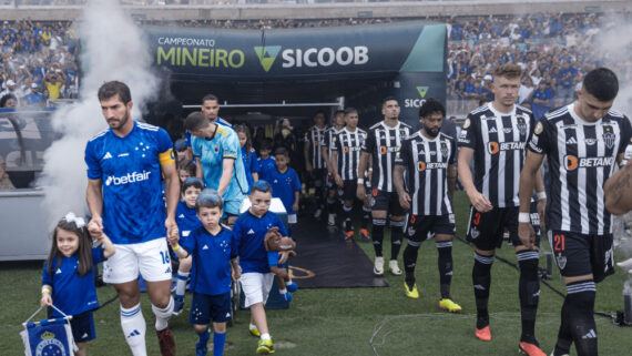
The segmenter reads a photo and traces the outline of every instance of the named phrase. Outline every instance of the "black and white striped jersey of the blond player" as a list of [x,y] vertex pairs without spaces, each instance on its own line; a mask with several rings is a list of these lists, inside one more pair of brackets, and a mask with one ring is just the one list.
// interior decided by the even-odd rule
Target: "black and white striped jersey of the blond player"
[[520,171],[533,125],[531,111],[516,105],[504,114],[492,103],[470,112],[463,123],[459,146],[475,151],[475,186],[495,207],[520,205]]

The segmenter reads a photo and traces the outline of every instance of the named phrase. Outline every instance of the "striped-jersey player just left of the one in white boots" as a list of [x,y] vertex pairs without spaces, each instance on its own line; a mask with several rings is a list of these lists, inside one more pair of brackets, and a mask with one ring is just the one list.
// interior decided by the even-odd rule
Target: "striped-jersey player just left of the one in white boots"
[[[358,129],[359,118],[356,109],[347,108],[344,118],[347,125],[333,139],[330,165],[336,185],[343,190],[345,235],[349,240],[354,236],[351,211],[354,208],[354,200],[356,199],[361,148],[367,139],[367,133]],[[367,200],[363,203],[365,214],[363,214],[360,236],[363,241],[368,241],[367,226],[369,215],[366,212],[370,206],[368,206]]]

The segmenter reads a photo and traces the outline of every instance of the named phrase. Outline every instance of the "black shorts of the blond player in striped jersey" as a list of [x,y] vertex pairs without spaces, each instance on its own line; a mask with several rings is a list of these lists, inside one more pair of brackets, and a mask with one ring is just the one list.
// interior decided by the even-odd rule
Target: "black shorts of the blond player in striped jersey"
[[[537,206],[537,203],[531,203],[531,222],[536,232],[536,246],[540,246],[540,218]],[[480,213],[471,206],[467,240],[479,250],[492,251],[502,245],[502,236],[507,231],[513,246],[521,246],[522,242],[518,237],[519,211],[518,206],[509,206],[493,207],[487,213]]]

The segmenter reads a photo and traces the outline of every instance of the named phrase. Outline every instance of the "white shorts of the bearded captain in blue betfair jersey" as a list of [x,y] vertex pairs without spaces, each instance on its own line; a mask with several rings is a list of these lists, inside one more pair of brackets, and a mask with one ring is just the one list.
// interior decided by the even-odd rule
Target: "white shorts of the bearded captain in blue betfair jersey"
[[171,279],[171,258],[166,238],[128,245],[114,245],[116,253],[103,263],[103,282],[120,284],[139,278],[147,282]]

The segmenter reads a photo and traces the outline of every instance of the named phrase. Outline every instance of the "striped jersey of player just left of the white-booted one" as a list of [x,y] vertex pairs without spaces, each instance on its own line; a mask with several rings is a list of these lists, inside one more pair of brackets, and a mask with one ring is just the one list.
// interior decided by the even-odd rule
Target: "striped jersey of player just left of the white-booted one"
[[367,132],[357,128],[354,132],[345,128],[333,138],[333,144],[329,148],[338,152],[336,170],[343,181],[358,179],[360,154],[366,139]]

